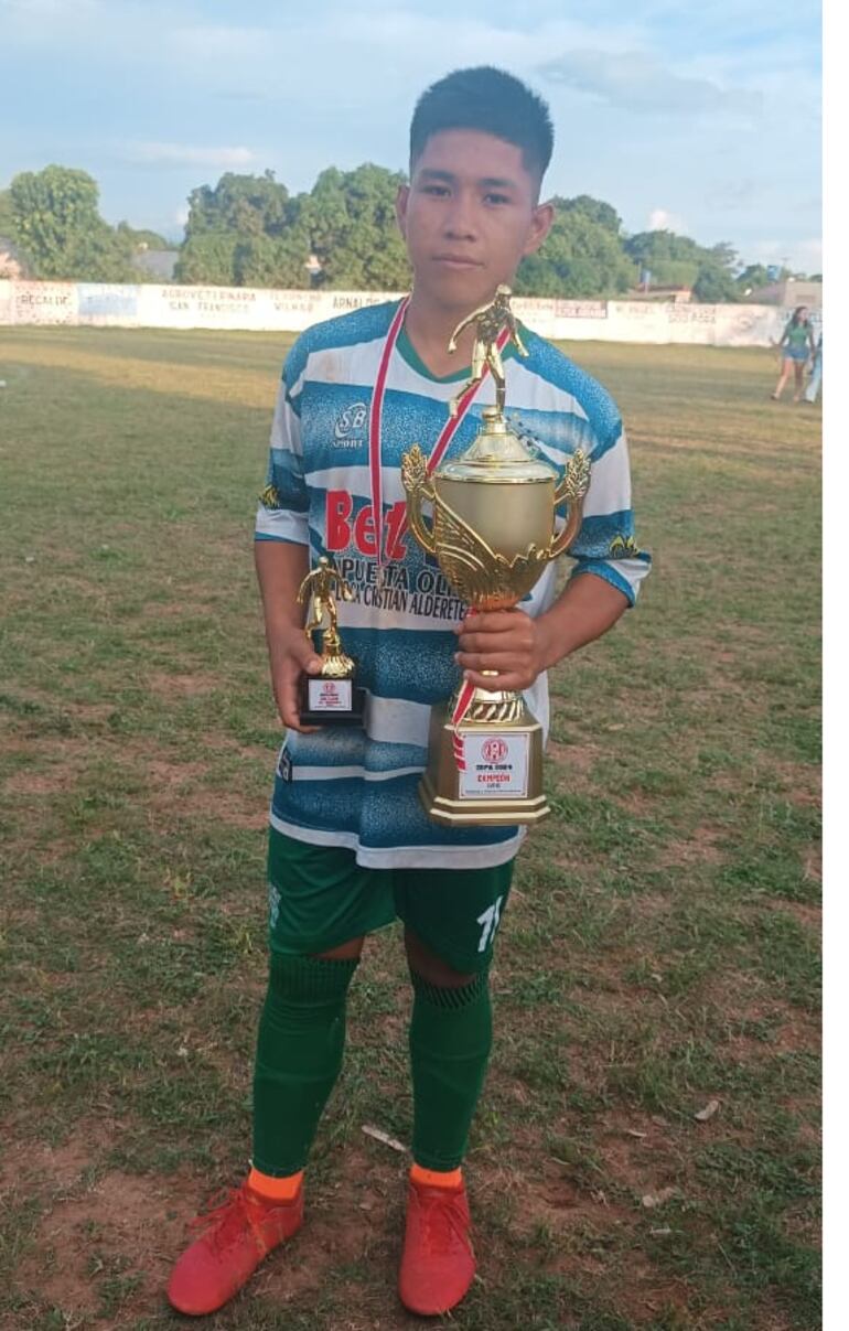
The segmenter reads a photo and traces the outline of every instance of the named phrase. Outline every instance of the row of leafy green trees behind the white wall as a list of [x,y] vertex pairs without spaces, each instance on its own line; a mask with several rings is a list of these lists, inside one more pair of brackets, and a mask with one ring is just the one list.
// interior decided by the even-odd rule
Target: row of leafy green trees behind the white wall
[[[325,286],[403,290],[411,281],[395,222],[403,174],[374,162],[329,166],[309,193],[290,196],[274,172],[226,172],[189,196],[174,273],[178,282],[221,286]],[[700,301],[743,299],[769,282],[761,264],[743,266],[727,241],[699,245],[667,229],[627,236],[611,204],[591,194],[552,200],[556,218],[538,254],[516,276],[522,295],[616,297],[648,269],[652,286],[691,286]],[[133,258],[168,249],[156,232],[109,226],[96,181],[84,170],[23,172],[0,190],[0,236],[36,277],[140,281]],[[307,266],[315,260],[314,270]],[[782,277],[789,277],[784,269]],[[804,277],[798,273],[796,277]]]

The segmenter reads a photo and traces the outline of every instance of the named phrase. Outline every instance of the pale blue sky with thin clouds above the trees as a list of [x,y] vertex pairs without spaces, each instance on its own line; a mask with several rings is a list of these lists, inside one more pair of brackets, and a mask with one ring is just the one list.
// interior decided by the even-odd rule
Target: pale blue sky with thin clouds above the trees
[[0,0],[0,188],[80,166],[178,240],[189,192],[407,165],[418,95],[495,64],[550,104],[551,194],[821,272],[821,29],[798,0]]

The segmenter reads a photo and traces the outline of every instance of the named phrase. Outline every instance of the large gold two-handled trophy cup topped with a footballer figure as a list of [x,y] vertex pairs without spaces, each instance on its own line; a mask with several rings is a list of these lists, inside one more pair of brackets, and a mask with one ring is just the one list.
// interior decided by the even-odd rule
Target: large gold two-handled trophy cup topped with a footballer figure
[[[414,445],[402,459],[410,530],[436,556],[456,595],[476,611],[510,610],[534,587],[551,559],[568,550],[580,527],[590,484],[590,459],[576,450],[558,483],[554,467],[534,458],[504,421],[504,370],[498,347],[507,329],[522,345],[510,287],[470,314],[456,337],[475,323],[472,377],[451,403],[478,383],[486,370],[495,381],[495,406],[471,447],[455,462],[428,474]],[[566,502],[567,520],[555,532],[555,508]],[[431,506],[427,524],[422,506]],[[539,823],[551,809],[543,793],[543,733],[520,692],[462,683],[450,703],[431,716],[427,769],[419,795],[431,819],[448,827]]]

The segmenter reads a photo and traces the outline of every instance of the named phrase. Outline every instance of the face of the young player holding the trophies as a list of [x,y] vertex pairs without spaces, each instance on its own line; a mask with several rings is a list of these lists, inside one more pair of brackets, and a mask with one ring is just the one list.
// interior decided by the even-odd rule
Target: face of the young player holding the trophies
[[476,129],[431,134],[398,192],[415,291],[458,313],[491,299],[551,229],[551,205],[535,200],[515,144]]

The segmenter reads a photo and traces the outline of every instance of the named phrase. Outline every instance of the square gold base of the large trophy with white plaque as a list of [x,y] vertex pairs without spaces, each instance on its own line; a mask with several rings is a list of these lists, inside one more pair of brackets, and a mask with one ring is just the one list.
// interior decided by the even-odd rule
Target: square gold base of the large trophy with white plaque
[[542,823],[551,808],[543,795],[543,728],[523,708],[515,721],[460,725],[466,769],[454,755],[447,705],[430,723],[427,771],[419,799],[443,827],[522,827]]

